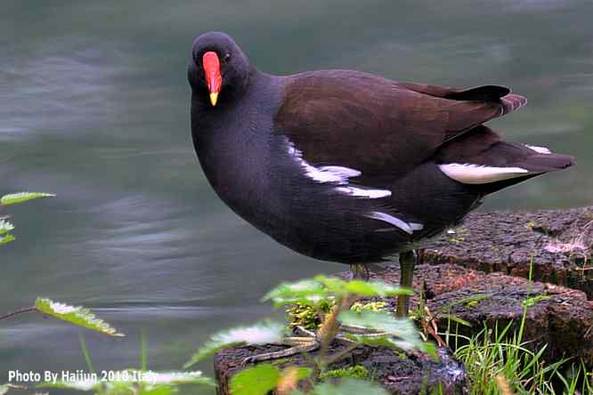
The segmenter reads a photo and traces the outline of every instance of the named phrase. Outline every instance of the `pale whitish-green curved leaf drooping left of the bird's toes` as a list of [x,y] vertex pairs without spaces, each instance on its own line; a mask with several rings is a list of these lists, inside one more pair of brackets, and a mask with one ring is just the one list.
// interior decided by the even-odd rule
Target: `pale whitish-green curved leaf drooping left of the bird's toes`
[[191,367],[200,360],[205,359],[217,351],[239,344],[267,344],[278,343],[284,336],[284,324],[272,321],[263,321],[253,326],[240,326],[227,329],[213,335],[209,341],[191,356],[191,359],[183,365],[184,368]]

